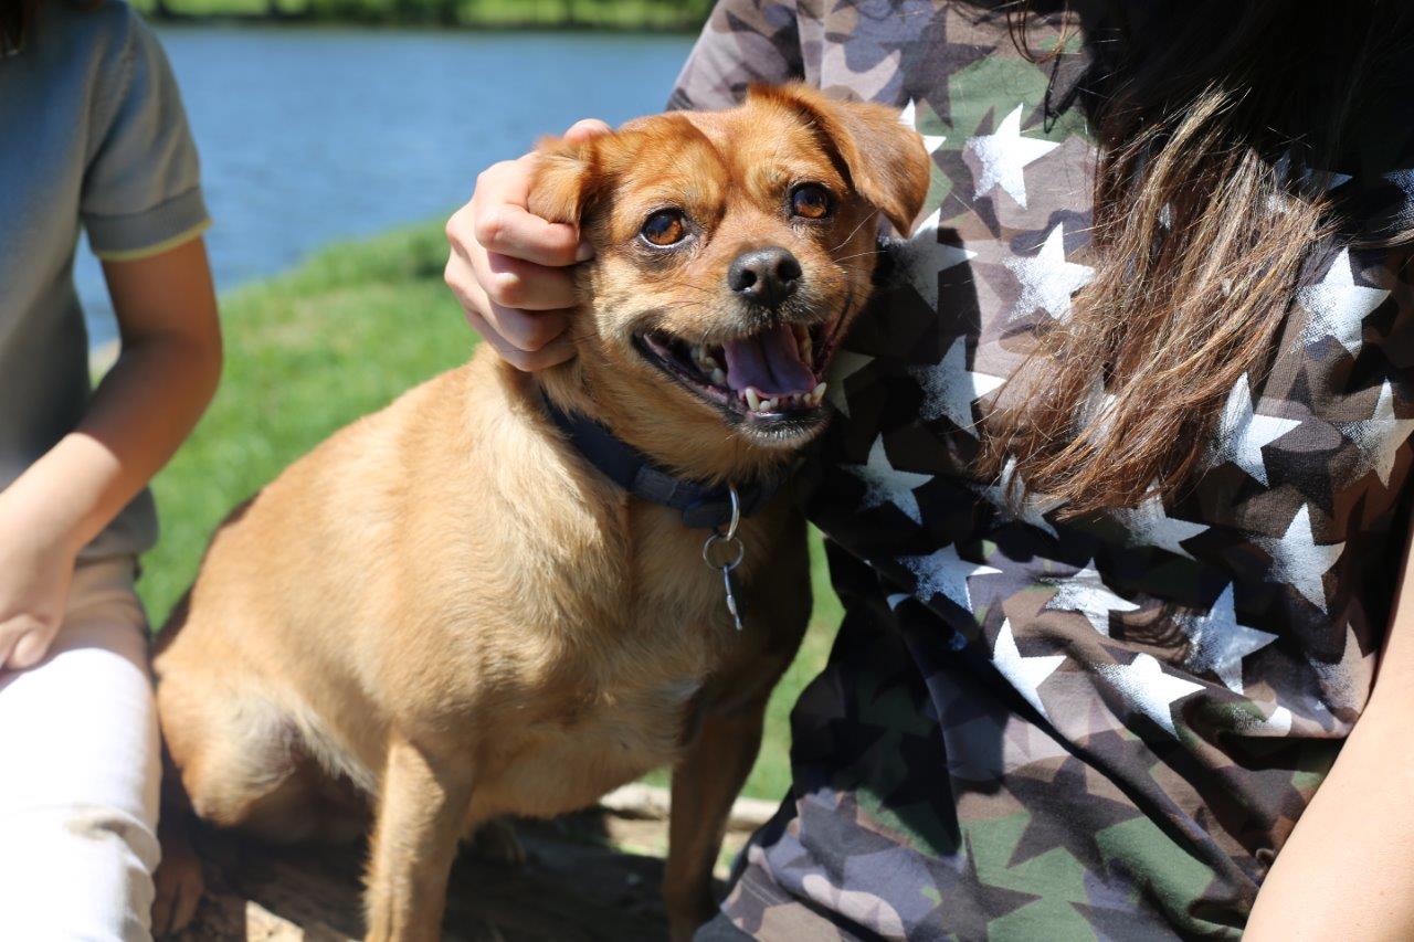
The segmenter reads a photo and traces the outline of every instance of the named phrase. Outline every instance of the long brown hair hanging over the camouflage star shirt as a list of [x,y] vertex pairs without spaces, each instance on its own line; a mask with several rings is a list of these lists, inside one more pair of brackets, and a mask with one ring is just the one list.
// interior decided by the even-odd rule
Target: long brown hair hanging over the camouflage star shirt
[[1311,250],[1342,228],[1326,173],[1370,78],[1408,52],[1406,3],[1082,11],[1096,274],[998,399],[984,470],[1015,458],[1068,516],[1196,477],[1233,385],[1270,368]]

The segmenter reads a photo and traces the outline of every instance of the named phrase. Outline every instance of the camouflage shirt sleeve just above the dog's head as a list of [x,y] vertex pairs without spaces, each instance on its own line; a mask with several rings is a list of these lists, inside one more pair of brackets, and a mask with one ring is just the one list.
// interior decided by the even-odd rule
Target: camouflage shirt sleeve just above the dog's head
[[795,0],[718,0],[667,100],[672,109],[731,107],[752,82],[805,78]]

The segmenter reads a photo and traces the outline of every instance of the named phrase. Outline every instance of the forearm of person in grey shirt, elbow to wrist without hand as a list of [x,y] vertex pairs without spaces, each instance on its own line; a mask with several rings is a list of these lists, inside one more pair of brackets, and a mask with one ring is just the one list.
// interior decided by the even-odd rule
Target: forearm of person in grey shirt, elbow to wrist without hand
[[82,423],[0,498],[25,530],[78,552],[173,455],[211,400],[219,338],[154,334],[124,342]]

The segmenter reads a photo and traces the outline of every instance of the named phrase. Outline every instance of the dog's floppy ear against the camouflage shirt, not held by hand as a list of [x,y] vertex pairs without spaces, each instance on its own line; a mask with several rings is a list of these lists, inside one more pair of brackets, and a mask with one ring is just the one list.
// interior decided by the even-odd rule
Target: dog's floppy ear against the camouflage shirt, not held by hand
[[841,102],[807,85],[752,85],[749,100],[783,105],[806,119],[834,149],[854,191],[908,235],[928,198],[932,160],[923,139],[898,120],[898,110],[871,102]]

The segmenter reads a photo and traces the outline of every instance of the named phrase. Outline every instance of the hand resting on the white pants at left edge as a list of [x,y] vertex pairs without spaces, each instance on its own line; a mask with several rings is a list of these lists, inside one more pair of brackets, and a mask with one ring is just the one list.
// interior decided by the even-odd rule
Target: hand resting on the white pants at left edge
[[64,622],[76,556],[41,506],[0,494],[0,669],[44,659]]

